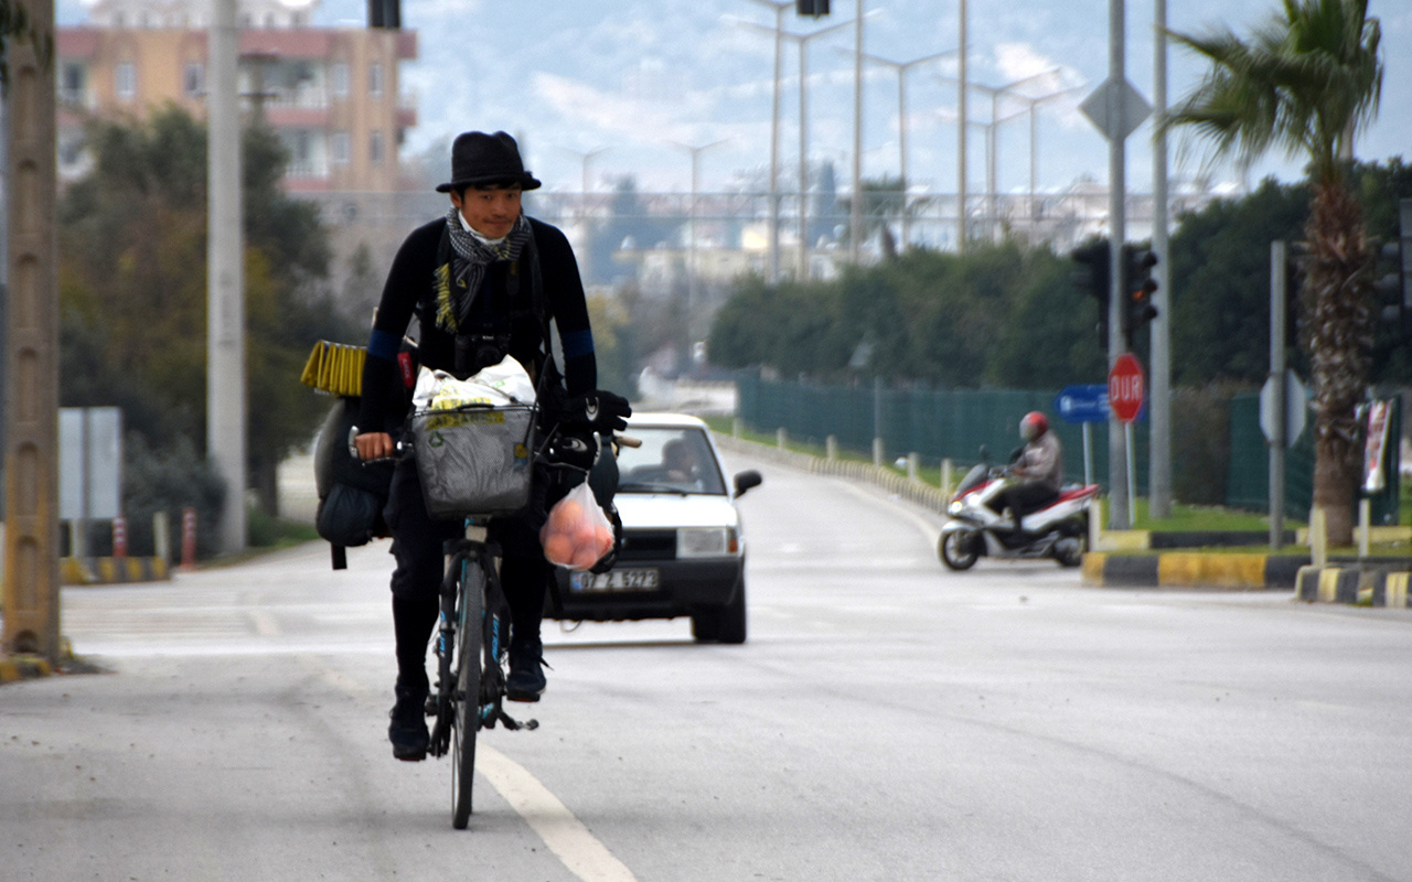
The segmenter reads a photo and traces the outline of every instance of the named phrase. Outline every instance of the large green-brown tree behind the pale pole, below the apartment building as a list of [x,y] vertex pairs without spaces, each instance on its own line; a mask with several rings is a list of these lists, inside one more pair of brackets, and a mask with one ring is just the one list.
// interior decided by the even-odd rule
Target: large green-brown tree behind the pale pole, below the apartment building
[[[151,449],[205,449],[206,131],[168,107],[95,123],[93,171],[59,203],[61,399],[120,405]],[[299,384],[309,346],[349,339],[325,284],[328,234],[280,188],[268,128],[243,135],[251,484],[275,512],[275,470],[323,408]],[[133,219],[138,219],[134,223]],[[179,483],[172,483],[179,485]]]

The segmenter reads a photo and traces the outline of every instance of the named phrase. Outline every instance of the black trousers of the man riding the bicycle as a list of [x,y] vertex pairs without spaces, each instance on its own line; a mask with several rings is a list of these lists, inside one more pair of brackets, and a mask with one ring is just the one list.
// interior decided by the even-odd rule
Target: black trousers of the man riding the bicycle
[[[554,577],[552,564],[539,546],[539,526],[545,518],[546,481],[535,481],[537,494],[525,511],[497,518],[490,539],[500,543],[503,557],[500,581],[510,603],[511,648],[538,651],[539,622],[544,618],[545,591]],[[443,546],[465,533],[460,519],[435,521],[426,514],[417,463],[398,461],[393,473],[383,518],[393,533],[393,624],[397,632],[397,683],[402,689],[425,691],[426,645],[441,610],[441,583],[445,567]]]

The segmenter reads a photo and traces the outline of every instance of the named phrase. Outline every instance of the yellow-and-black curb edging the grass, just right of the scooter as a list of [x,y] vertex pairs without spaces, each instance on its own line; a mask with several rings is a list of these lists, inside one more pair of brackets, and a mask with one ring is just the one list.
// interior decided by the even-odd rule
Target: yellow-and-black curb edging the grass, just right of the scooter
[[1111,588],[1224,588],[1265,590],[1295,587],[1300,555],[1221,555],[1165,552],[1161,555],[1083,556],[1083,581]]

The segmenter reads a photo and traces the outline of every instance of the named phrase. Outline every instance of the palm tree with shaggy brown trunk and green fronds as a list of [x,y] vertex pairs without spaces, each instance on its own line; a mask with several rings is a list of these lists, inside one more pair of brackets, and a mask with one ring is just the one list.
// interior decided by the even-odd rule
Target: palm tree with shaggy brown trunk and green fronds
[[1228,28],[1169,34],[1211,69],[1169,114],[1217,154],[1250,164],[1274,147],[1308,159],[1313,188],[1305,236],[1305,346],[1315,389],[1315,507],[1333,545],[1353,542],[1361,467],[1358,402],[1372,346],[1372,248],[1344,175],[1354,135],[1378,111],[1381,30],[1367,0],[1282,0],[1248,41]]

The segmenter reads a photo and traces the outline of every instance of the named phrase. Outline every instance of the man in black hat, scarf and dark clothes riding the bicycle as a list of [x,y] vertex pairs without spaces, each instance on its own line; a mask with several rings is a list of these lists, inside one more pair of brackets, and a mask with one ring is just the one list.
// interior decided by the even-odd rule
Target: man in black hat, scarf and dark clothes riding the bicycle
[[[593,333],[568,238],[521,210],[521,193],[539,186],[525,171],[514,138],[469,131],[452,145],[452,179],[438,192],[452,207],[414,230],[398,250],[383,286],[363,368],[363,397],[354,445],[364,460],[391,456],[393,433],[383,430],[401,413],[388,413],[402,374],[398,356],[417,318],[421,366],[465,378],[505,356],[525,367],[539,389],[541,425],[561,426],[566,456],[590,466],[596,432],[623,429],[627,401],[599,391]],[[561,375],[551,349],[551,320],[563,353]],[[552,494],[563,488],[537,481],[530,505],[497,518],[490,538],[503,549],[501,581],[510,603],[507,696],[538,701],[545,689],[539,621],[552,567],[539,546]],[[393,533],[393,625],[397,635],[397,701],[388,738],[393,755],[426,756],[426,644],[438,615],[442,546],[462,535],[460,519],[428,516],[417,467],[398,461],[384,521]]]

